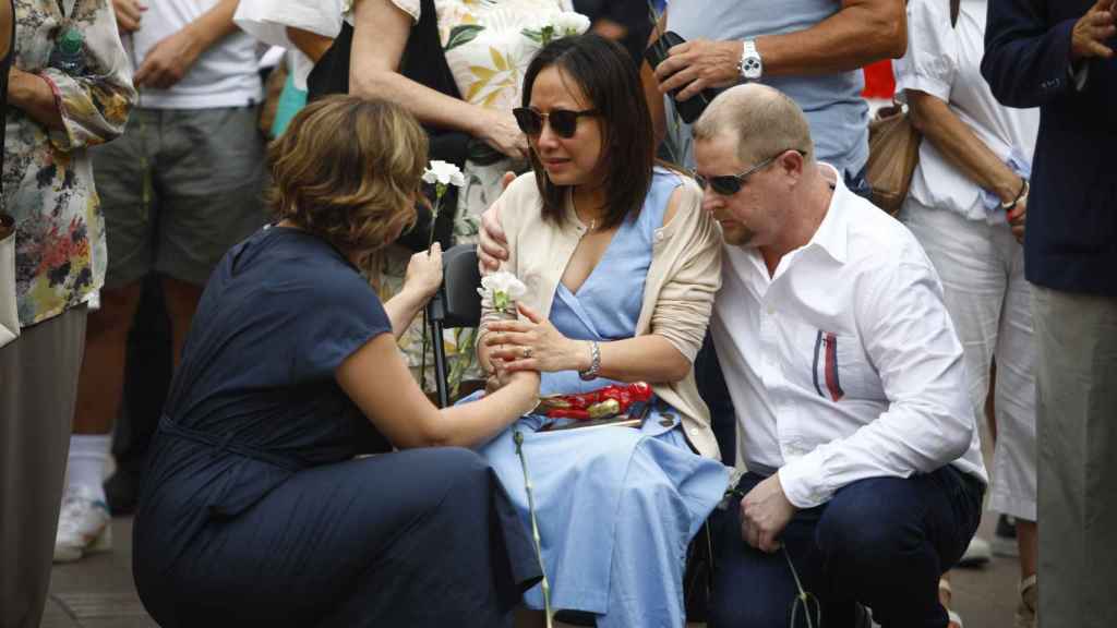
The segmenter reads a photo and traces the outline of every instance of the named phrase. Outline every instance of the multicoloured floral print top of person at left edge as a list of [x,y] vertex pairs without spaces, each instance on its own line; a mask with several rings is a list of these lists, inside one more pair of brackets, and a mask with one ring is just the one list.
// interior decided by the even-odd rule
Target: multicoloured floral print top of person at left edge
[[[70,27],[84,38],[78,76],[48,67]],[[64,124],[49,130],[8,105],[2,209],[16,219],[15,289],[26,327],[80,305],[104,283],[104,217],[86,148],[124,131],[135,91],[107,0],[16,0],[15,48],[13,67],[47,82]]]

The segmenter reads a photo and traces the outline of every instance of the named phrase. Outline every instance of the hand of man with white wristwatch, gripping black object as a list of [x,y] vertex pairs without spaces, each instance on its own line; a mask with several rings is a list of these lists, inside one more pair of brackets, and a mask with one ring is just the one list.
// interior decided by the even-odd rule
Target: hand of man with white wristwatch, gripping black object
[[686,101],[707,87],[725,87],[741,80],[743,41],[695,39],[675,46],[656,67],[663,94],[682,88],[677,98]]

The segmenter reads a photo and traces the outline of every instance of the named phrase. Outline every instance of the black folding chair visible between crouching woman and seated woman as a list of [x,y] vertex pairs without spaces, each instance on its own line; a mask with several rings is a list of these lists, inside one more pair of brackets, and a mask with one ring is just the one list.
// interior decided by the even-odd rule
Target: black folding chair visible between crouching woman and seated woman
[[430,325],[435,345],[435,386],[439,408],[450,405],[442,331],[480,324],[481,296],[477,292],[480,285],[476,245],[457,245],[442,253],[442,286],[427,304],[427,324]]

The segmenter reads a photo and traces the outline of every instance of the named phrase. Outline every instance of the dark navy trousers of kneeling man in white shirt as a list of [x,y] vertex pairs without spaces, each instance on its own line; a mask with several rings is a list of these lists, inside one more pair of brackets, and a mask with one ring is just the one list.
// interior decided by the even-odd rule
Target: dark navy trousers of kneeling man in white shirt
[[[747,494],[763,476],[738,484]],[[981,521],[984,485],[954,467],[909,478],[855,482],[830,502],[796,513],[781,537],[827,628],[852,628],[857,605],[881,628],[945,628],[938,578],[965,551]],[[798,594],[783,551],[741,537],[739,499],[712,520],[716,572],[710,628],[791,626]],[[795,626],[805,627],[802,610]],[[814,624],[818,626],[818,622]]]

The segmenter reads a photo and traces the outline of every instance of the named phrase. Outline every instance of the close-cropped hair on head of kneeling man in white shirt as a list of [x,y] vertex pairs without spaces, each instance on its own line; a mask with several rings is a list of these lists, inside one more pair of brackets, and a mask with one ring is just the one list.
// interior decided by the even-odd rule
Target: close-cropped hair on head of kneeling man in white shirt
[[719,94],[693,129],[696,142],[728,134],[737,140],[737,159],[753,164],[787,150],[814,160],[811,127],[803,111],[783,92],[750,83]]

